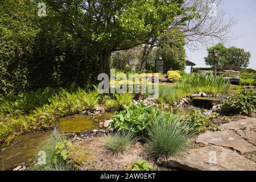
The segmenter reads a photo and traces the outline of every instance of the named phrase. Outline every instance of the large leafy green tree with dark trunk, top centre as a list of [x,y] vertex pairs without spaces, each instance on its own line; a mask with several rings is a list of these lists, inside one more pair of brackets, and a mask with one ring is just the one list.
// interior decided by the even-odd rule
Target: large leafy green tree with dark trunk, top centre
[[[57,2],[46,0],[61,15],[64,24],[73,23],[85,35],[100,56],[100,72],[108,72],[109,57],[114,51],[155,42],[178,16],[192,7],[183,7],[183,0],[78,0]],[[179,22],[192,19],[193,13]],[[77,28],[76,28],[77,30]],[[150,52],[146,49],[146,55]],[[143,67],[146,66],[143,62]]]

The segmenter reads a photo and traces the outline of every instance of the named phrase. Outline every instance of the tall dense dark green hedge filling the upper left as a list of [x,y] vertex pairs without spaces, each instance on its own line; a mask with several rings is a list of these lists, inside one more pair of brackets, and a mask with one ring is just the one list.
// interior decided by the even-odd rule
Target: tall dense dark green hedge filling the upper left
[[2,0],[0,12],[0,94],[97,80],[97,52],[71,22],[40,18],[34,1]]

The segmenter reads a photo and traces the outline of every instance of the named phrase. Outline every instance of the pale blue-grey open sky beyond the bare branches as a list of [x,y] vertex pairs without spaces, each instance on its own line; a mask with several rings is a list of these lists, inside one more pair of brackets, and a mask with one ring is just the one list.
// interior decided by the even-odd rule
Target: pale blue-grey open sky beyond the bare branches
[[[255,0],[223,0],[220,9],[226,12],[226,21],[230,16],[237,21],[231,33],[234,39],[225,43],[226,47],[235,46],[251,53],[249,68],[256,69],[256,1]],[[195,67],[206,67],[204,57],[207,47],[201,46],[196,51],[186,48],[187,59],[196,64]],[[190,67],[186,72],[190,71]]]

